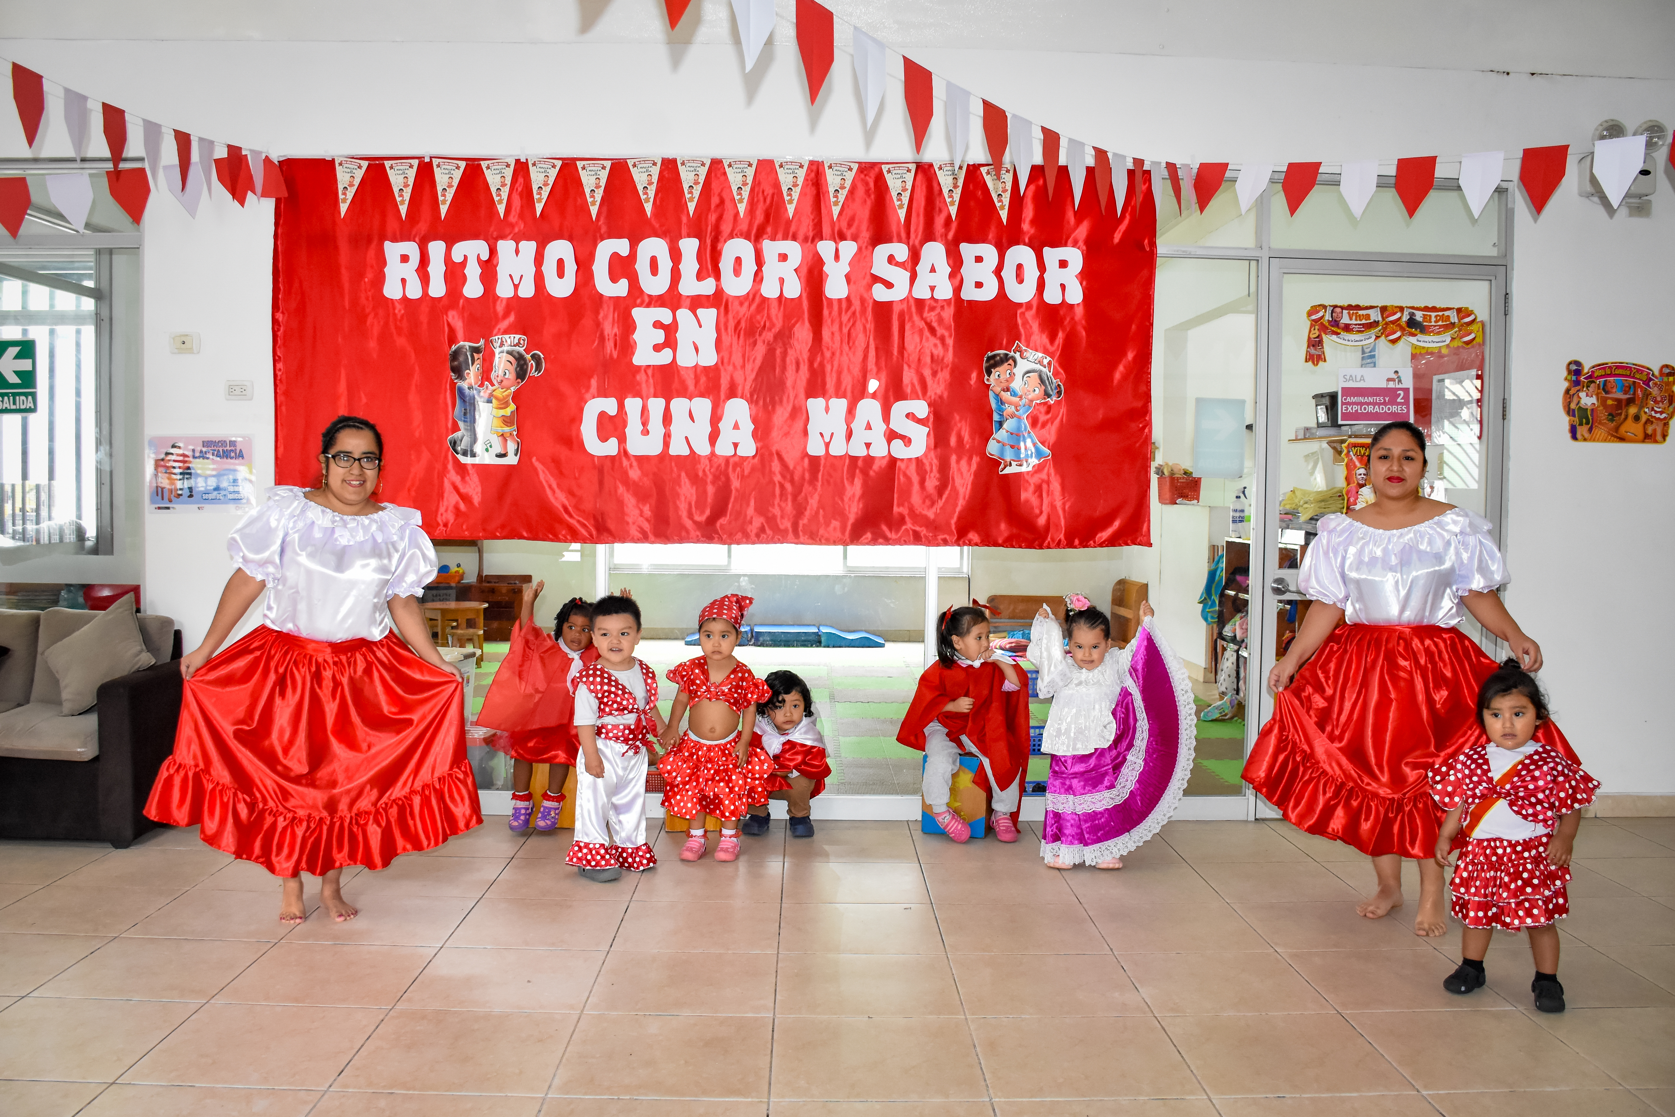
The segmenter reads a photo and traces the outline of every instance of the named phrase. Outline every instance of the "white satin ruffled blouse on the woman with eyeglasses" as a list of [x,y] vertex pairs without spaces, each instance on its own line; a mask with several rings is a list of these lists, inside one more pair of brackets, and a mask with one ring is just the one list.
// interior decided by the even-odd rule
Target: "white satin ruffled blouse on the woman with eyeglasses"
[[268,583],[261,623],[338,643],[384,640],[390,598],[417,598],[436,578],[436,548],[410,507],[343,516],[302,489],[275,486],[226,541],[238,568]]

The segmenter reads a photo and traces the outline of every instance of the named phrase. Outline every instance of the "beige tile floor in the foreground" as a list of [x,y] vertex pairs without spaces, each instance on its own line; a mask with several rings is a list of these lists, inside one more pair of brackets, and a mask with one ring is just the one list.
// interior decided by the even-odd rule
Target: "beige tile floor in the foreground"
[[1675,819],[1583,824],[1563,1017],[1518,936],[1444,993],[1457,931],[1276,822],[1070,874],[904,822],[610,886],[566,846],[491,819],[291,929],[191,831],[0,842],[0,1114],[1675,1114]]

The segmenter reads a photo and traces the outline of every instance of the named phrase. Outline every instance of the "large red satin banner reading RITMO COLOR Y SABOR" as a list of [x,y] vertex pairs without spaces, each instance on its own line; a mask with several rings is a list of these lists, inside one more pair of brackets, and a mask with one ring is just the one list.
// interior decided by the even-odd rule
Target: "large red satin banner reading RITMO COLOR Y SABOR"
[[1037,172],[1002,221],[975,166],[645,164],[466,167],[444,221],[430,161],[405,219],[285,161],[278,481],[345,412],[436,538],[1149,543],[1151,189]]

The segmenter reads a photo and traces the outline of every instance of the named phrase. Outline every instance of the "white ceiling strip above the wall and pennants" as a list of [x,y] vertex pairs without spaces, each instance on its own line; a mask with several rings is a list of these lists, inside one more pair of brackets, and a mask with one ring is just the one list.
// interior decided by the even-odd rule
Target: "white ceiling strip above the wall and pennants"
[[[1675,79],[1672,0],[827,0],[884,44]],[[776,0],[774,42],[794,42]],[[0,0],[7,39],[734,42],[729,0]],[[838,28],[839,50],[848,32]]]

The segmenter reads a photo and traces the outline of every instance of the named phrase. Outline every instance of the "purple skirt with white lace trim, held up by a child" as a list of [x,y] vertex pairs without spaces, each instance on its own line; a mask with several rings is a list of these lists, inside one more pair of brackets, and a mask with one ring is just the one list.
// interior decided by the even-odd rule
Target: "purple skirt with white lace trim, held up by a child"
[[1181,660],[1141,626],[1109,745],[1054,755],[1047,774],[1042,859],[1099,864],[1139,849],[1174,814],[1193,774],[1198,735],[1193,687]]

